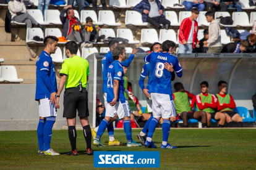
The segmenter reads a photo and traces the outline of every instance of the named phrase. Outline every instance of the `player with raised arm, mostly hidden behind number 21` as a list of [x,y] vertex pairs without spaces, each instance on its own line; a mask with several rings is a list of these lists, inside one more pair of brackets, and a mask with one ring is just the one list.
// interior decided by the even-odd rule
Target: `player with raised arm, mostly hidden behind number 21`
[[[101,60],[101,68],[102,68],[102,77],[103,77],[103,86],[102,86],[102,92],[103,92],[103,97],[105,100],[105,106],[108,102],[106,102],[106,97],[107,97],[107,81],[108,81],[108,67],[111,63],[114,62],[112,51],[119,46],[119,41],[116,39],[113,39],[108,43],[109,46],[109,52],[106,54],[103,59]],[[130,54],[130,57],[122,62],[122,65],[125,67],[129,67],[130,63],[134,59],[134,55],[138,52],[139,50],[136,49],[136,46],[134,47],[132,54]],[[126,91],[126,93],[129,93],[129,91]],[[132,95],[132,94],[130,94]],[[115,118],[116,119],[116,118]],[[113,121],[115,119],[112,119],[111,122],[109,122],[109,125],[107,126],[108,129],[108,136],[109,136],[109,142],[108,145],[120,145],[120,142],[116,139],[114,139],[114,127],[113,127]],[[99,127],[99,126],[98,126]],[[98,131],[98,127],[95,129],[92,129],[92,136],[93,139],[95,139],[96,132]]]

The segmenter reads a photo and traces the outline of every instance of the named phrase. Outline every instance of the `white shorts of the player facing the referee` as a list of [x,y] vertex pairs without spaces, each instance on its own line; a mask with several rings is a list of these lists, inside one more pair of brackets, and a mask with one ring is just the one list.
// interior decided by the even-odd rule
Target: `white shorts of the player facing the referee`
[[39,116],[46,118],[57,116],[57,108],[55,107],[55,103],[51,103],[48,98],[40,99],[38,101],[38,107],[39,107]]

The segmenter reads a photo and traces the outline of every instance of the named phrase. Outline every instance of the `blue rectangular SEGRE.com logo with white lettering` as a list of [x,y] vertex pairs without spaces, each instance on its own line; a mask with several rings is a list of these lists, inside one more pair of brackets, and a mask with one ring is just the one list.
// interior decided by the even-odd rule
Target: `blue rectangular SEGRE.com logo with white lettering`
[[159,151],[96,151],[95,168],[159,168]]

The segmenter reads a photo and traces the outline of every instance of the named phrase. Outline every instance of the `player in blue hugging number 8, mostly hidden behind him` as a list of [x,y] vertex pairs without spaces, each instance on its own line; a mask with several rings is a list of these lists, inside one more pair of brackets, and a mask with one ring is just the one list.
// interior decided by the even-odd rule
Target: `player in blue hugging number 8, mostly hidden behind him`
[[[175,46],[176,46],[176,44],[175,44],[175,42],[173,42],[171,54],[174,53]],[[161,44],[159,42],[155,42],[154,44],[151,45],[150,51],[151,52],[156,52],[156,53],[161,52],[162,51]],[[171,72],[171,74],[172,74],[171,75],[171,81],[174,81],[175,73],[174,73],[174,70],[173,70],[173,65],[171,63],[169,65],[169,63],[166,62],[166,63],[164,63],[164,68],[166,68],[168,71]],[[148,76],[148,84],[147,84],[147,88],[145,88],[144,87],[144,80],[147,76]],[[145,141],[147,140],[146,134],[148,132],[148,127],[149,127],[150,121],[153,118],[153,115],[152,115],[152,101],[151,101],[151,98],[150,98],[150,92],[148,92],[149,89],[150,89],[150,77],[151,77],[150,76],[150,63],[145,63],[145,65],[142,68],[142,74],[140,75],[140,79],[139,79],[140,88],[142,89],[142,91],[144,92],[144,94],[147,97],[147,110],[146,110],[147,113],[143,113],[143,115],[142,115],[143,119],[146,118],[147,123],[143,127],[142,131],[139,134],[137,134],[137,139],[140,140],[141,144],[144,144]],[[148,114],[148,113],[151,113],[151,114]],[[148,118],[148,116],[150,116],[150,118]]]

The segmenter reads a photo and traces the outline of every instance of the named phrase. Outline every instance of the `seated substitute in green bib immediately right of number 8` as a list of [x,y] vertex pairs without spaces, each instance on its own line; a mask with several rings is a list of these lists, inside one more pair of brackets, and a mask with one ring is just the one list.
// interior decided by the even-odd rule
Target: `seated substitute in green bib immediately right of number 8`
[[[184,90],[182,83],[175,83],[173,93],[173,101],[177,112],[177,120],[182,119],[184,127],[189,127],[188,119],[201,119],[202,126],[207,127],[207,115],[205,111],[192,111],[194,107],[195,95]],[[191,105],[189,98],[192,99]]]

